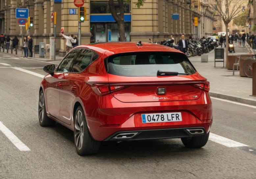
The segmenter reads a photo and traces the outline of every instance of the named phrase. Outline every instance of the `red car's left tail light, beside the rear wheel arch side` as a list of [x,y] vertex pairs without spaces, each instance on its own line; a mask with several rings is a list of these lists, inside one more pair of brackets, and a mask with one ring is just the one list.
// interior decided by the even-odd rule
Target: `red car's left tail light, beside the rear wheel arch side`
[[103,96],[106,94],[110,94],[112,92],[127,88],[126,86],[118,86],[118,85],[108,85],[108,84],[93,84],[87,83],[91,86],[93,91],[99,96]]

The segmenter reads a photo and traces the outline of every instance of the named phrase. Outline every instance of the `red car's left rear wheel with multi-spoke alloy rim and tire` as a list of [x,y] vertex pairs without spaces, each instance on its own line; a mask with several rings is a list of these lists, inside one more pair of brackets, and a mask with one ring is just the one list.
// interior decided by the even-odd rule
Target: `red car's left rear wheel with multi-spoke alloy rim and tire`
[[74,118],[74,141],[76,152],[79,155],[94,155],[99,151],[100,141],[92,139],[87,122],[84,115],[84,110],[79,106]]

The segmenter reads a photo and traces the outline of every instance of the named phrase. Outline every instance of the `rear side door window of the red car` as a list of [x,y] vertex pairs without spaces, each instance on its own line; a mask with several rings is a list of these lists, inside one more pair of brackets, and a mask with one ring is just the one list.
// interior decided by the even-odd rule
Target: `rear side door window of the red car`
[[82,72],[89,65],[92,54],[93,52],[90,50],[81,49],[72,65],[72,68],[70,69],[70,72]]

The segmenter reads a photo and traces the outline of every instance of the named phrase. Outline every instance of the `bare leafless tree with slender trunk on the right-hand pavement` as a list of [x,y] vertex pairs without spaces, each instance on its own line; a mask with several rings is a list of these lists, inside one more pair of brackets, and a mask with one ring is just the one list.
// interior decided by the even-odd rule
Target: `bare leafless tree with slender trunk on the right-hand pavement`
[[239,17],[242,13],[243,5],[246,5],[245,0],[215,0],[210,5],[213,10],[216,11],[226,28],[226,66],[227,66],[227,56],[228,56],[228,24],[230,21],[236,17]]

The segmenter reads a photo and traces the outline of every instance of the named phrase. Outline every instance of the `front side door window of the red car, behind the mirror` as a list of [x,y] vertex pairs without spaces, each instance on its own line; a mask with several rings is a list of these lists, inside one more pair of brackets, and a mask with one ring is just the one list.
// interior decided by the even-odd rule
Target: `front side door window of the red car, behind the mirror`
[[57,68],[56,72],[68,72],[69,67],[71,66],[74,58],[76,57],[78,51],[80,49],[76,49],[71,51],[60,63],[59,67]]

